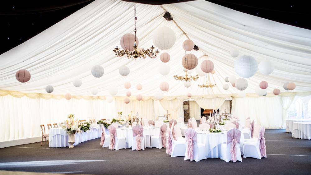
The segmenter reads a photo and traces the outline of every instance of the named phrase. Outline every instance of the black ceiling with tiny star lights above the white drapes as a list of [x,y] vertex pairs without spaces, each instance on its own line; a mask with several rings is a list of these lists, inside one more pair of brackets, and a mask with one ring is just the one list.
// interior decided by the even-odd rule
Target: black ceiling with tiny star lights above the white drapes
[[[0,54],[34,37],[94,0],[32,0],[1,2]],[[181,0],[182,1],[182,0]],[[136,2],[162,3],[176,0]],[[185,0],[183,0],[185,1]],[[133,2],[133,0],[132,0]],[[209,0],[240,12],[269,20],[311,29],[308,1],[230,1]],[[173,14],[174,15],[174,14]]]

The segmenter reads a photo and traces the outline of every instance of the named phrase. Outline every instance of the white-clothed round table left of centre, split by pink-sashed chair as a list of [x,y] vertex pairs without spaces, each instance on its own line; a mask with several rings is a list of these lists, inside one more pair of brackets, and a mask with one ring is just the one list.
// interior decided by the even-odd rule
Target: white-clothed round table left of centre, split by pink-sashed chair
[[[151,136],[156,136],[160,134],[160,127],[144,127],[144,142],[145,148],[150,148]],[[132,148],[133,131],[132,127],[128,128],[118,128],[117,135],[125,137],[126,146]]]

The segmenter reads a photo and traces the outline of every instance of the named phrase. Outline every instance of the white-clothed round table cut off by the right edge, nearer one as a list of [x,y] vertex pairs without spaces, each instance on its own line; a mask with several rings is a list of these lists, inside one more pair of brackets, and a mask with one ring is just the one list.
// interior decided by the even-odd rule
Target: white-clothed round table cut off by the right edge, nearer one
[[292,136],[298,139],[311,139],[311,122],[294,122]]

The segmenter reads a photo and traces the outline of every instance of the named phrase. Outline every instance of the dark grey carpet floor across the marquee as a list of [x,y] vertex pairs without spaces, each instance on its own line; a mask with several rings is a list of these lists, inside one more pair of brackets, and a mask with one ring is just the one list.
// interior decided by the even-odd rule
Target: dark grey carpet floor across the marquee
[[285,130],[266,129],[266,159],[245,158],[226,163],[169,157],[165,149],[109,150],[100,139],[73,149],[40,143],[0,149],[0,170],[79,174],[311,174],[311,140],[295,139]]

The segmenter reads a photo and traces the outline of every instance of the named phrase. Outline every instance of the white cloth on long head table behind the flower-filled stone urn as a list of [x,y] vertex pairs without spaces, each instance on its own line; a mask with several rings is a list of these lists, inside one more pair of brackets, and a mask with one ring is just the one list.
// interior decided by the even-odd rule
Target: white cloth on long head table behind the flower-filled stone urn
[[[81,142],[99,138],[101,136],[101,129],[99,124],[91,124],[90,130],[75,134],[75,143],[78,145]],[[51,128],[49,130],[49,146],[50,147],[66,147],[70,146],[68,143],[68,134],[63,128]]]

